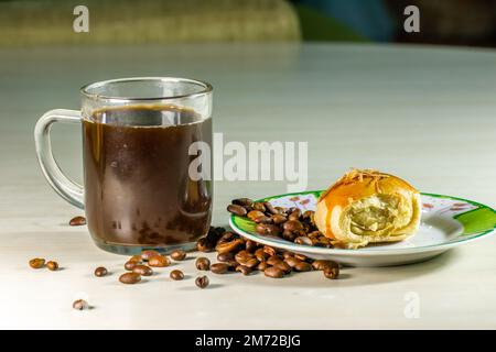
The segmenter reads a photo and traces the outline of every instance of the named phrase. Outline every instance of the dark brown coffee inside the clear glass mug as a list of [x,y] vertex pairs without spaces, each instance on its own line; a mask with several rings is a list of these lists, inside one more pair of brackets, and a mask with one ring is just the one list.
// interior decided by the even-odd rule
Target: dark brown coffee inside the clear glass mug
[[107,244],[169,245],[204,235],[212,182],[193,180],[193,142],[212,146],[212,119],[173,106],[96,111],[83,122],[85,208]]

